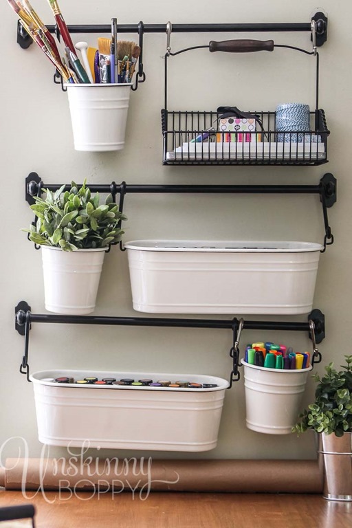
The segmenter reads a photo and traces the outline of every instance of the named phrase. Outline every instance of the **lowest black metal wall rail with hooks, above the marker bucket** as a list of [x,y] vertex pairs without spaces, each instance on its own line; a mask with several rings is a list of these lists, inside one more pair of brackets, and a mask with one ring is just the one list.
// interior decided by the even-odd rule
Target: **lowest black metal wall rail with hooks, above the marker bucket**
[[177,328],[209,328],[228,329],[232,331],[232,371],[230,375],[230,388],[232,382],[239,381],[239,339],[242,330],[279,330],[279,331],[308,331],[313,343],[314,353],[312,364],[320,363],[322,356],[316,348],[316,343],[325,338],[325,315],[319,309],[314,309],[308,316],[308,322],[281,322],[281,321],[248,321],[232,318],[220,319],[173,319],[173,318],[146,318],[146,317],[109,317],[109,316],[61,316],[56,314],[32,314],[31,307],[22,300],[14,309],[15,328],[25,336],[25,352],[19,371],[27,376],[30,381],[30,366],[28,364],[30,329],[32,323],[61,323],[72,325],[112,325],[134,327],[177,327]]

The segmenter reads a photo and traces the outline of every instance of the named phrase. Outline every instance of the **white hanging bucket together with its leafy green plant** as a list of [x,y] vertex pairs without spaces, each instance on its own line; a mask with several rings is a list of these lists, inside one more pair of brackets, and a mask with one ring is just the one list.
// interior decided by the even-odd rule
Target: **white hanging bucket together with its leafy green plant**
[[45,308],[56,314],[85,315],[96,307],[96,296],[104,255],[117,243],[123,231],[111,195],[100,204],[98,192],[91,195],[86,181],[81,187],[72,181],[56,192],[43,190],[30,206],[37,219],[29,239],[42,249]]

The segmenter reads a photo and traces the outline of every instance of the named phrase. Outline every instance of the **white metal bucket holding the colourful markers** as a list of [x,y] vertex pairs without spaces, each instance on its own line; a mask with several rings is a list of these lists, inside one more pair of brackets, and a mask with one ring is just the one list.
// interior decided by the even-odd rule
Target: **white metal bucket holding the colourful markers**
[[267,369],[241,360],[245,375],[248,429],[266,434],[289,434],[298,419],[307,375],[313,369]]

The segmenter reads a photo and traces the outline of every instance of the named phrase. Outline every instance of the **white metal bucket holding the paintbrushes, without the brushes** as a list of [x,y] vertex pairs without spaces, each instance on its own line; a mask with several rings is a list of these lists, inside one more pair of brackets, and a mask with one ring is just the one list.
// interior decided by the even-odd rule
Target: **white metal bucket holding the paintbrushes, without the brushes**
[[131,85],[65,85],[76,151],[124,148]]

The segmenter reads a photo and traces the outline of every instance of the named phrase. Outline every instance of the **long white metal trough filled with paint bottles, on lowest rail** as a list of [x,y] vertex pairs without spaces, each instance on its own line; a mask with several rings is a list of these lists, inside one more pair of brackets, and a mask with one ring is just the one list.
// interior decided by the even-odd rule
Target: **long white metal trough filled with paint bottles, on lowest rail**
[[[49,381],[94,375],[189,380],[212,388],[78,385]],[[228,382],[195,374],[42,371],[34,386],[39,441],[49,445],[160,451],[208,451],[217,436]]]

